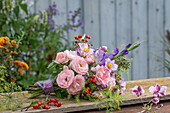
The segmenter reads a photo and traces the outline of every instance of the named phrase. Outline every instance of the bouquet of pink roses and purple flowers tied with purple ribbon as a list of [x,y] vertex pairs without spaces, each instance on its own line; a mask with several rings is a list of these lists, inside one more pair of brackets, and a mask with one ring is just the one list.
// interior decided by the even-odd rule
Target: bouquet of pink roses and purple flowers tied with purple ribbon
[[129,69],[131,61],[125,55],[142,42],[122,46],[123,49],[115,48],[110,52],[106,46],[93,49],[93,45],[88,43],[91,39],[88,35],[74,38],[75,50],[57,53],[55,60],[48,66],[54,79],[29,86],[27,90],[31,93],[30,98],[55,92],[59,98],[112,101],[119,106],[119,95],[126,85],[122,72]]

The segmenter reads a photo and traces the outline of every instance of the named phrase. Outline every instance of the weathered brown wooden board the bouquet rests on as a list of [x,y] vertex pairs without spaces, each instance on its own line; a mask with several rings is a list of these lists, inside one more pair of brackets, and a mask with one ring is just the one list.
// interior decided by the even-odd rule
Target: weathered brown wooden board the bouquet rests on
[[[136,80],[136,81],[128,81],[127,82],[127,89],[124,91],[123,95],[127,98],[127,100],[124,100],[123,103],[121,103],[121,106],[124,105],[132,105],[132,104],[138,104],[141,103],[140,98],[137,96],[133,95],[131,92],[131,88],[133,88],[136,85],[141,85],[143,86],[145,90],[145,94],[141,96],[144,102],[148,102],[153,98],[153,95],[149,92],[149,87],[150,86],[155,86],[156,84],[159,84],[161,86],[167,86],[167,92],[166,96],[163,96],[160,98],[160,100],[170,100],[170,77],[166,78],[155,78],[155,79],[147,79],[147,80]],[[25,92],[26,96],[29,96],[27,92]],[[55,97],[51,97],[55,98]],[[34,100],[44,100],[45,96],[38,97]],[[23,107],[28,106],[29,102],[31,102],[32,99],[21,99],[24,104]],[[67,99],[58,99],[63,103],[62,107],[57,108],[57,107],[51,107],[50,110],[33,110],[33,108],[30,108],[29,111],[30,113],[36,113],[36,112],[49,112],[49,113],[62,113],[62,112],[73,112],[73,111],[82,111],[82,110],[90,110],[90,109],[97,109],[97,106],[95,107],[94,102],[90,102],[87,100],[81,100],[81,103],[76,103],[74,99],[67,100]],[[5,111],[4,111],[5,112]],[[8,111],[9,112],[9,111]],[[15,112],[20,112],[20,110],[15,111]]]

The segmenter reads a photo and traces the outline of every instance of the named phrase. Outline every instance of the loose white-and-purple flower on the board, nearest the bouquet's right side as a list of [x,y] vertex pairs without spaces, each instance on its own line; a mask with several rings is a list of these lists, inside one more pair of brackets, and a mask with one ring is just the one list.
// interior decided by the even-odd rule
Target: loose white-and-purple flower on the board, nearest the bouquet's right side
[[139,97],[145,93],[145,90],[142,88],[142,86],[135,86],[132,88],[132,93]]

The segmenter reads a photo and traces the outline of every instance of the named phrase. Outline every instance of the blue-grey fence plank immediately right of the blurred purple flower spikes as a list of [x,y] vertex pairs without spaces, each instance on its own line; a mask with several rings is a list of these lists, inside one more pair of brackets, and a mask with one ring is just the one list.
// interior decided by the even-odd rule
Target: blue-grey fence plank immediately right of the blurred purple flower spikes
[[85,33],[92,37],[91,43],[94,48],[99,48],[101,45],[100,39],[100,11],[99,0],[83,0],[84,3],[84,20]]

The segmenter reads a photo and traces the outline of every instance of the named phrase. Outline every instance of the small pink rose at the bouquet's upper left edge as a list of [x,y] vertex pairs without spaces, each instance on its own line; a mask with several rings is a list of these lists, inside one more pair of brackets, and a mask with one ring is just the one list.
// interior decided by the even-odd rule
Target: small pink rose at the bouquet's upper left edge
[[55,63],[57,64],[64,64],[68,62],[68,58],[67,58],[67,55],[64,53],[64,52],[59,52],[57,53],[57,56],[56,56],[56,59],[55,59]]

